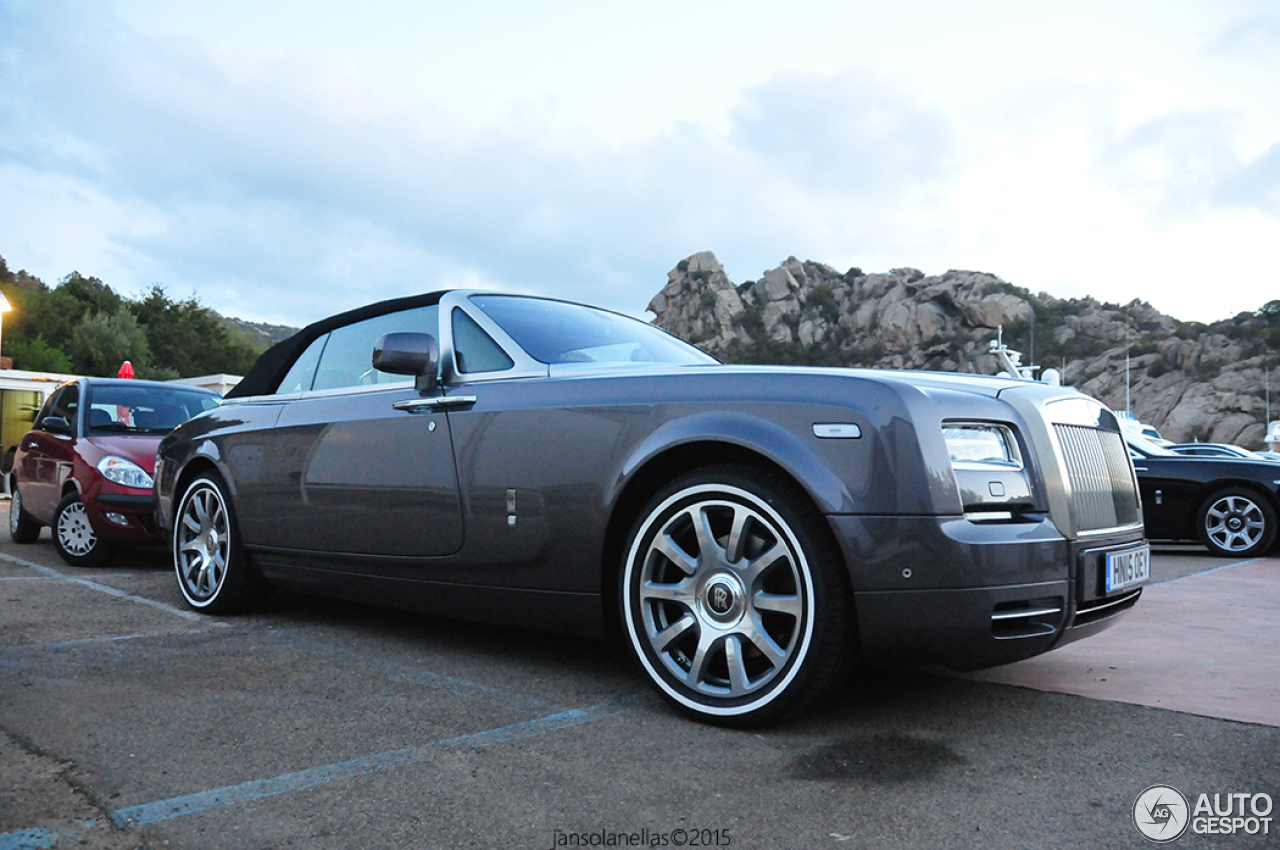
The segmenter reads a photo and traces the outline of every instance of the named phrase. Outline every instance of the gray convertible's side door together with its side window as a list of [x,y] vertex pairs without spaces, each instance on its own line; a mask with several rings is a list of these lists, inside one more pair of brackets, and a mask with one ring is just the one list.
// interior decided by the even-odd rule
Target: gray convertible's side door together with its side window
[[274,428],[256,435],[270,479],[259,490],[274,495],[252,511],[247,543],[367,556],[364,570],[374,572],[394,563],[378,557],[440,557],[461,548],[448,417],[397,408],[419,398],[412,380],[371,367],[379,335],[434,334],[436,315],[429,306],[375,316],[314,343],[314,374],[285,378],[285,389],[302,392],[283,402]]

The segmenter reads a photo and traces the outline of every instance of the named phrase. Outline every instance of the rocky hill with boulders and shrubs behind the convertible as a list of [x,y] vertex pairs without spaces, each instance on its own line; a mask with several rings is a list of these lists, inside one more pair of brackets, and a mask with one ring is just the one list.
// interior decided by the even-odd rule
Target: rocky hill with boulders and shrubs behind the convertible
[[841,273],[795,257],[735,284],[709,251],[667,278],[649,303],[654,324],[730,362],[996,374],[988,346],[1002,326],[1024,362],[1061,370],[1115,410],[1126,407],[1128,349],[1129,408],[1169,439],[1262,447],[1280,301],[1206,325],[1142,301],[1032,294],[983,271]]

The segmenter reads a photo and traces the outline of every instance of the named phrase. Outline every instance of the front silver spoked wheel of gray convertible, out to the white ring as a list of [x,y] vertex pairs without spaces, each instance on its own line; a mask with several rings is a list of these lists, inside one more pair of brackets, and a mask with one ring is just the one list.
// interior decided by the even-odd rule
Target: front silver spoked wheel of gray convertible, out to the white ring
[[699,485],[672,495],[636,535],[625,580],[641,663],[652,675],[660,664],[666,676],[654,680],[690,708],[758,709],[808,650],[813,590],[803,549],[745,490]]

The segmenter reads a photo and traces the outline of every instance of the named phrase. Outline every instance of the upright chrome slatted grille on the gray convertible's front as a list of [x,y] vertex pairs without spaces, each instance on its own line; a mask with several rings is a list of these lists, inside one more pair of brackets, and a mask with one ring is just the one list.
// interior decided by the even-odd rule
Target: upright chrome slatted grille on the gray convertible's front
[[1071,484],[1079,531],[1120,529],[1142,521],[1133,465],[1124,438],[1083,425],[1055,424]]

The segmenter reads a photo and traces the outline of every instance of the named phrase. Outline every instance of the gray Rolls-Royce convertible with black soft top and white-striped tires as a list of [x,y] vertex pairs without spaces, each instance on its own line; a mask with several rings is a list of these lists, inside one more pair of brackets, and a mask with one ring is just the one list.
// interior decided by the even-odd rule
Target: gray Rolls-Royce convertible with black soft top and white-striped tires
[[1116,417],[997,378],[745,367],[581,305],[451,291],[319,321],[160,447],[192,608],[269,585],[618,635],[677,709],[1098,631],[1149,572]]

